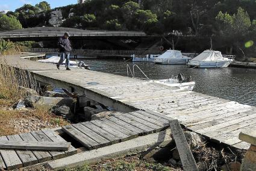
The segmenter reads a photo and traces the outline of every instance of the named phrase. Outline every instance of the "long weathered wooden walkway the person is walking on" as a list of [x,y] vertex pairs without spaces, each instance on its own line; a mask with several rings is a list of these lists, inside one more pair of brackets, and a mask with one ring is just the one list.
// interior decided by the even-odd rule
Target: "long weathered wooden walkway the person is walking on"
[[52,64],[18,56],[6,58],[11,66],[33,72],[39,81],[72,87],[75,92],[119,111],[155,111],[178,119],[186,128],[211,140],[239,149],[249,147],[239,140],[239,132],[256,128],[256,110],[249,105],[125,76],[84,69],[57,70]]

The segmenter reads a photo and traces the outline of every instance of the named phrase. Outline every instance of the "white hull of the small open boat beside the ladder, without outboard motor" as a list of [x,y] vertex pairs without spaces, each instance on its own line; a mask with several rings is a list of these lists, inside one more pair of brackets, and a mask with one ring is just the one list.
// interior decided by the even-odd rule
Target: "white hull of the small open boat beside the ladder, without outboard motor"
[[150,82],[157,82],[159,84],[168,85],[170,87],[178,87],[181,90],[189,91],[192,91],[196,85],[196,82],[194,81],[181,82],[177,76],[172,76],[172,78],[169,79],[155,79],[151,80]]

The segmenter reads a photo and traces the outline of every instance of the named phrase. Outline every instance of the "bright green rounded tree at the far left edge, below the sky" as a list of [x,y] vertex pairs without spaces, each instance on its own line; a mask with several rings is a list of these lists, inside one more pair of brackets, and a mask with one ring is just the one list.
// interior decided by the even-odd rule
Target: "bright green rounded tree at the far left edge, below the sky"
[[7,15],[0,15],[0,31],[10,31],[10,30],[17,30],[22,28],[19,20],[16,17]]

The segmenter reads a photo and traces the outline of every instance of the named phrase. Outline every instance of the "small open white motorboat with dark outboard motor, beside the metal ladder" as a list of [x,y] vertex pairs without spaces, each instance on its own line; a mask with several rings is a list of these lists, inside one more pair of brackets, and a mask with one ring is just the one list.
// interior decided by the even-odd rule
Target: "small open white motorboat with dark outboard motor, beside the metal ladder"
[[182,73],[178,76],[172,76],[169,79],[155,79],[150,82],[157,82],[159,84],[168,85],[170,87],[178,87],[181,90],[192,91],[195,88],[196,82],[192,81],[192,77],[185,78]]

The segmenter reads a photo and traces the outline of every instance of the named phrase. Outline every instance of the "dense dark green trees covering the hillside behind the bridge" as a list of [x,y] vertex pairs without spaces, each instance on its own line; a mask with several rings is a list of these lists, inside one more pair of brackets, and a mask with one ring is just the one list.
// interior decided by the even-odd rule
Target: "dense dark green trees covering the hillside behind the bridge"
[[[43,1],[35,6],[23,5],[7,15],[16,17],[23,28],[46,26],[50,9]],[[53,10],[57,9],[63,16],[60,26],[143,30],[163,36],[167,46],[175,44],[176,48],[190,47],[196,51],[210,48],[212,39],[214,49],[228,54],[252,56],[255,53],[255,0],[88,0]]]

